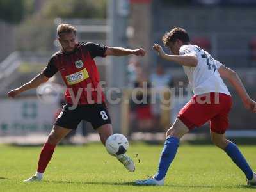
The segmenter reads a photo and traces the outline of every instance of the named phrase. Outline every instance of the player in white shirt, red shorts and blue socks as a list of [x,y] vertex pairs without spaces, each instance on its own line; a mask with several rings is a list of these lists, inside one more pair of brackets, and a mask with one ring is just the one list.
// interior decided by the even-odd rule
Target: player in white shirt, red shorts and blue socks
[[256,102],[250,98],[236,72],[214,60],[200,47],[191,45],[188,33],[184,29],[173,28],[165,33],[163,43],[172,54],[166,54],[158,44],[155,44],[153,49],[161,58],[182,65],[195,95],[180,110],[174,124],[166,132],[166,141],[157,173],[149,179],[137,180],[135,183],[163,185],[164,177],[179,147],[180,138],[189,130],[210,122],[212,142],[224,150],[243,171],[248,186],[256,186],[256,173],[253,173],[239,148],[225,138],[232,97],[221,77],[230,81],[246,109],[255,113]]

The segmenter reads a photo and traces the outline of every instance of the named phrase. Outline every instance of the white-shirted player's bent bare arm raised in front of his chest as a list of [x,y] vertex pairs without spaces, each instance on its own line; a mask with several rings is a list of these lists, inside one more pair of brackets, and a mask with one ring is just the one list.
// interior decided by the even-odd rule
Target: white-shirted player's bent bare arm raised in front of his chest
[[196,67],[198,60],[197,57],[194,55],[170,55],[170,54],[166,54],[163,51],[163,48],[158,45],[158,44],[154,44],[153,49],[155,49],[158,53],[158,55],[163,58],[164,60],[167,61],[172,61],[175,63],[178,63],[180,65],[184,65],[184,66],[191,66],[191,67]]

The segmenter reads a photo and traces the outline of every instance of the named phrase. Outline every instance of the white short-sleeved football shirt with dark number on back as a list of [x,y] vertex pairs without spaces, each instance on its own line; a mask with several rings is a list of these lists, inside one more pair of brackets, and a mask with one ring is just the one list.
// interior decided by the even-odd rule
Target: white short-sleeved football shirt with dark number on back
[[196,45],[182,45],[179,55],[196,55],[198,63],[196,67],[183,66],[188,76],[189,84],[195,95],[216,92],[230,95],[226,84],[220,77],[218,68],[222,65],[214,60],[211,54]]

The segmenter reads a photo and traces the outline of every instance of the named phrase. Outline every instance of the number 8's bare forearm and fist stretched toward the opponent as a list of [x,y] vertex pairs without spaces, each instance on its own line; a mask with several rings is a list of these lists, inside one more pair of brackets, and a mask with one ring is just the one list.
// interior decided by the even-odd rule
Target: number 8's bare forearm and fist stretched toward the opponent
[[123,47],[108,47],[105,52],[106,55],[112,56],[127,56],[134,54],[136,56],[145,56],[146,51],[142,48],[140,49],[125,49]]

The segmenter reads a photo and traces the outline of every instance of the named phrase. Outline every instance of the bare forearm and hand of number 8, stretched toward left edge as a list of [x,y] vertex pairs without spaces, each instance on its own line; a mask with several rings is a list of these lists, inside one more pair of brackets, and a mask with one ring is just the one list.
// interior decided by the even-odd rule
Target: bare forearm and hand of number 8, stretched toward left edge
[[38,74],[31,81],[29,81],[28,83],[23,84],[19,88],[16,88],[16,89],[8,92],[8,96],[9,97],[16,97],[20,93],[26,92],[26,90],[30,90],[32,88],[38,87],[41,83],[44,83],[44,82],[48,81],[48,79],[49,78],[46,77],[44,74],[42,74],[42,73]]

